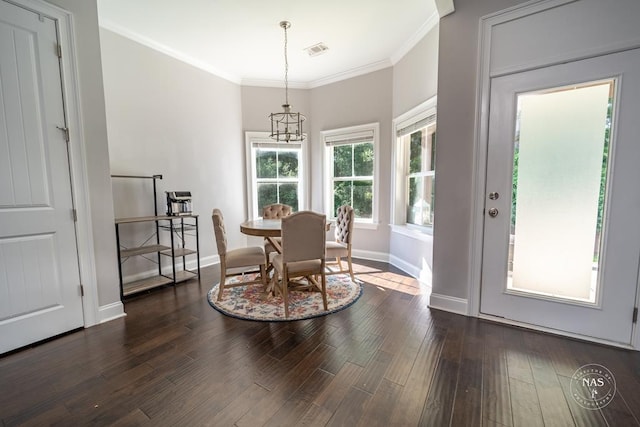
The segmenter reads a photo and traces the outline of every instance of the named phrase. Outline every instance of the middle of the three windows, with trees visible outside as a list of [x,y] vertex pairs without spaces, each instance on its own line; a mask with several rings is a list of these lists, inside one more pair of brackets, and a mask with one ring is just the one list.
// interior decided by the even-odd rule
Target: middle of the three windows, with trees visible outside
[[377,222],[375,180],[377,123],[321,133],[325,145],[327,217],[350,205],[356,221]]

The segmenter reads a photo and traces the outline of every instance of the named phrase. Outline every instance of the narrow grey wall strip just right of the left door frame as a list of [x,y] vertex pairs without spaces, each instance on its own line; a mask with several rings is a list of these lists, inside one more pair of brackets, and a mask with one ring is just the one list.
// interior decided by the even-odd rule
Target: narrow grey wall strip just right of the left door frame
[[98,304],[105,307],[120,302],[120,291],[96,0],[49,0],[49,3],[73,14]]

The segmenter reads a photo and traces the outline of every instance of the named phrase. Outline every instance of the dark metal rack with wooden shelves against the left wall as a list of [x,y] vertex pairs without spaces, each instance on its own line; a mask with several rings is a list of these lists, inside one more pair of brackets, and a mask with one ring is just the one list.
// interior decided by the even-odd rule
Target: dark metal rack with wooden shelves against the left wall
[[[136,178],[153,180],[154,215],[116,218],[116,243],[118,246],[118,272],[120,278],[120,297],[125,297],[144,292],[159,286],[175,285],[189,279],[200,277],[200,243],[198,233],[198,215],[158,215],[156,206],[156,180],[162,179],[162,175],[137,176],[137,175],[112,175],[112,178]],[[121,226],[136,223],[154,223],[154,232],[146,241],[137,247],[125,248],[120,242]],[[163,242],[160,236],[164,235]],[[187,237],[195,238],[195,248],[187,245]],[[168,242],[167,242],[168,241]],[[150,243],[151,242],[151,243]],[[154,261],[148,255],[155,254]],[[122,264],[129,258],[144,256],[158,265],[158,274],[124,283]],[[194,257],[197,269],[187,269],[187,257]],[[164,263],[162,260],[165,260]],[[164,271],[163,271],[164,267]]]

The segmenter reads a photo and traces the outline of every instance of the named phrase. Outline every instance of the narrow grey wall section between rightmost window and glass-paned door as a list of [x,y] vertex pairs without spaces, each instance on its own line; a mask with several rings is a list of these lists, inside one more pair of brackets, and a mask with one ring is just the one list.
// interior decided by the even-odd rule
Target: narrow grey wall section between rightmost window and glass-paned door
[[434,294],[468,296],[479,20],[518,3],[456,0],[455,12],[440,20]]

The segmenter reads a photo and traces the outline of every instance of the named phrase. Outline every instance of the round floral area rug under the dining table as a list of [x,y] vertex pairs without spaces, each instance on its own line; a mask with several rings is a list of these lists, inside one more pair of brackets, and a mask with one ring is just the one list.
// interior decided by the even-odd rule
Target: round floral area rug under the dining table
[[[245,280],[250,278],[250,276],[246,276]],[[239,282],[242,280],[242,276],[228,280]],[[325,316],[344,310],[362,295],[362,286],[353,282],[349,275],[330,275],[327,276],[327,311],[322,305],[320,292],[290,291],[289,317],[286,318],[282,297],[266,294],[261,284],[225,289],[222,301],[217,300],[218,286],[219,284],[216,283],[207,293],[207,300],[213,308],[227,316],[263,322],[302,320]]]

